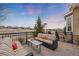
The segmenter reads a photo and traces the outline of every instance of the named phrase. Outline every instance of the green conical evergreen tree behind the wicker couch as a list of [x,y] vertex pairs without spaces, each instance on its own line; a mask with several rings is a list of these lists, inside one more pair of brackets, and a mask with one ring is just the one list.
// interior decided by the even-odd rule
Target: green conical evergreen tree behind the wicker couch
[[35,32],[33,33],[34,36],[37,36],[38,33],[43,33],[44,32],[44,26],[45,24],[42,24],[41,18],[38,16],[38,19],[36,21],[36,24],[34,26]]

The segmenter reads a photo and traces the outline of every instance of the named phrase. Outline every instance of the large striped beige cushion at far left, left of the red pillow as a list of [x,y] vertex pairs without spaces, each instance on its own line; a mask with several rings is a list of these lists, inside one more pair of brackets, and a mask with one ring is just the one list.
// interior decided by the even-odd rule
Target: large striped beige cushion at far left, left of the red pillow
[[9,37],[3,38],[3,40],[0,43],[0,55],[4,56],[12,56],[14,55],[13,49],[12,49],[12,39]]

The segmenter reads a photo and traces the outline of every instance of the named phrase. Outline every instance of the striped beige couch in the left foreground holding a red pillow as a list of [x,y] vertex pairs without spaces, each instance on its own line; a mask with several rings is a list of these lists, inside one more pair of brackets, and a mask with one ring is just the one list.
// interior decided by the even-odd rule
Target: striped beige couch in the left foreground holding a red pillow
[[6,37],[0,40],[0,56],[33,56],[33,53],[23,48],[19,41],[16,43],[17,49],[13,50],[11,38]]

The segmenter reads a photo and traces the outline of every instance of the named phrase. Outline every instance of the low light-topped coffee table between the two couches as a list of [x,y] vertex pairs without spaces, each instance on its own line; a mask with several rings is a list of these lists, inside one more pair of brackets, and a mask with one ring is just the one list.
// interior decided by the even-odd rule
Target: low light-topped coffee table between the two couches
[[37,40],[28,40],[28,46],[31,46],[32,47],[32,44],[36,46],[36,49],[37,51],[40,53],[41,52],[41,45],[42,45],[42,42],[40,41],[37,41]]

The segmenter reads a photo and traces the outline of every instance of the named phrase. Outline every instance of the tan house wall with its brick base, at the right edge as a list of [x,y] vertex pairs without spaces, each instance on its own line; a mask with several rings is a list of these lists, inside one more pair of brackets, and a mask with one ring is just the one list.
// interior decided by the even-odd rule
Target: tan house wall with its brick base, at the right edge
[[73,38],[74,43],[79,44],[79,7],[73,10]]

